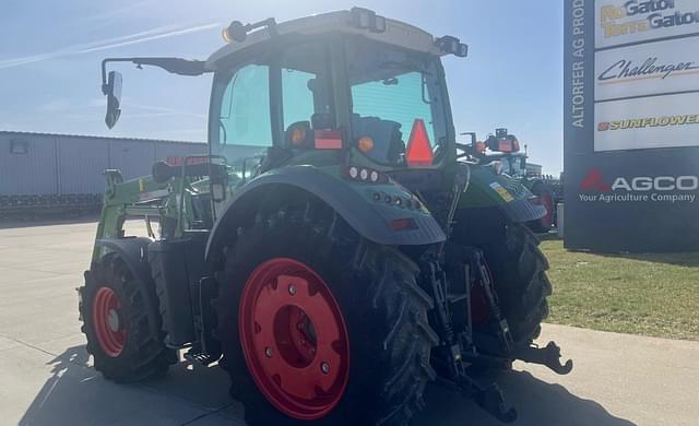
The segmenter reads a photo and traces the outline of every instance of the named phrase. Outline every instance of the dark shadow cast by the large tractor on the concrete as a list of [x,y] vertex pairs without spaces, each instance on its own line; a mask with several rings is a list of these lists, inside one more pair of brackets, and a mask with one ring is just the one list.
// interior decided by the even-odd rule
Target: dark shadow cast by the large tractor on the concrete
[[[242,406],[228,397],[228,377],[218,367],[180,363],[165,377],[116,384],[91,367],[83,345],[68,348],[48,365],[50,377],[24,413],[22,426],[245,425]],[[632,425],[599,403],[525,371],[500,374],[498,383],[518,409],[516,425]],[[427,409],[412,425],[502,425],[475,403],[439,386],[428,387],[426,399]]]

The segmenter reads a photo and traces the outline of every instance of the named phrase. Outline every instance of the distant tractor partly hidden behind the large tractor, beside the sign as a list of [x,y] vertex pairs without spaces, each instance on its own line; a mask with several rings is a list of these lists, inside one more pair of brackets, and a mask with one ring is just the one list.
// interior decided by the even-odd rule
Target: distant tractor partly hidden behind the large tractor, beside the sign
[[[475,138],[475,133],[470,134]],[[531,170],[526,159],[526,152],[520,151],[520,142],[514,134],[507,129],[496,129],[495,134],[489,134],[483,142],[477,143],[474,154],[482,165],[489,164],[497,174],[507,175],[526,187],[534,198],[531,201],[546,209],[546,214],[528,223],[535,233],[548,233],[557,223],[556,205],[562,200],[562,186],[554,179],[546,179],[538,173]]]

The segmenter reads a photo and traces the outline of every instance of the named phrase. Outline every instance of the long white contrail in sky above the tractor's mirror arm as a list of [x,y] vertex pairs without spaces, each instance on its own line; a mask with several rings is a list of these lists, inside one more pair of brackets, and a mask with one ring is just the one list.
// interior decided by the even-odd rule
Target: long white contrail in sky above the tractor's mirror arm
[[210,23],[210,24],[203,24],[203,25],[188,26],[183,28],[181,27],[177,28],[173,25],[161,26],[157,28],[139,32],[131,35],[127,35],[127,36],[106,38],[106,39],[93,42],[90,44],[68,46],[68,47],[63,47],[61,49],[49,51],[46,54],[38,54],[38,55],[20,57],[20,58],[2,59],[0,60],[0,70],[5,68],[20,67],[27,63],[42,62],[50,59],[63,58],[67,56],[114,49],[122,46],[153,42],[153,40],[168,38],[168,37],[176,37],[183,34],[199,33],[202,31],[215,28],[217,26],[221,26],[221,24]]

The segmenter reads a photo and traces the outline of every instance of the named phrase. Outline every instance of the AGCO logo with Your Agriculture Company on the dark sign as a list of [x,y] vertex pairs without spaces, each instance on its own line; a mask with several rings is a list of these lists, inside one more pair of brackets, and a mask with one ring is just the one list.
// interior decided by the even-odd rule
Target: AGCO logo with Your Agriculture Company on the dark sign
[[583,202],[689,202],[699,194],[699,176],[635,176],[606,179],[597,168],[580,182]]

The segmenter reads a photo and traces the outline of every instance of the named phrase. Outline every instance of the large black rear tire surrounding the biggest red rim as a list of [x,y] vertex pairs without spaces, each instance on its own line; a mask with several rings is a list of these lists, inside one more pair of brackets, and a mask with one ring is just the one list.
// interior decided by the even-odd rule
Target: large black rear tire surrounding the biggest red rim
[[[247,300],[251,273],[271,259],[291,259],[317,274],[336,300],[346,324],[346,388],[335,394],[334,406],[328,405],[321,416],[311,414],[306,419],[317,425],[402,426],[423,407],[425,384],[436,377],[429,357],[437,335],[427,320],[433,301],[417,286],[418,270],[408,258],[365,240],[332,210],[312,202],[258,217],[239,232],[235,246],[225,250],[224,257],[225,269],[216,276],[222,366],[230,375],[232,395],[245,405],[248,424],[297,425],[304,418],[304,413],[285,406],[288,410],[282,414],[279,401],[273,403],[264,397],[260,378],[253,379],[250,362],[242,353],[241,299]],[[260,354],[248,353],[249,359],[256,357],[265,362]],[[279,384],[284,378],[276,380]]]

